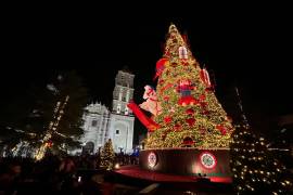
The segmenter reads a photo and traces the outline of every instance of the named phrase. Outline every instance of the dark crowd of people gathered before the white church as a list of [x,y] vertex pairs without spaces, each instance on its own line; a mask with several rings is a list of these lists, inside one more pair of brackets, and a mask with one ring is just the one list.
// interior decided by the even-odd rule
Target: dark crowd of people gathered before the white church
[[[114,164],[138,165],[138,157],[116,154]],[[102,176],[104,181],[105,171],[100,169],[99,154],[66,157],[49,154],[40,161],[0,158],[0,195],[102,194],[106,185],[94,180],[94,176]]]

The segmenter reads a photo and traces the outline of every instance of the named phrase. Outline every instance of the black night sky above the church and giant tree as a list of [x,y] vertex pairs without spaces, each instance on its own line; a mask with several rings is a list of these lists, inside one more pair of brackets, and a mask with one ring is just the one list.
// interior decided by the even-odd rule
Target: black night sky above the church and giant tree
[[214,73],[217,96],[228,113],[235,84],[256,126],[259,119],[292,113],[292,73],[288,69],[293,17],[285,6],[142,9],[11,9],[1,23],[1,100],[9,102],[55,70],[76,69],[91,99],[111,107],[114,77],[128,66],[136,75],[135,101],[140,103],[143,86],[155,86],[155,63],[174,23],[187,32],[200,64]]

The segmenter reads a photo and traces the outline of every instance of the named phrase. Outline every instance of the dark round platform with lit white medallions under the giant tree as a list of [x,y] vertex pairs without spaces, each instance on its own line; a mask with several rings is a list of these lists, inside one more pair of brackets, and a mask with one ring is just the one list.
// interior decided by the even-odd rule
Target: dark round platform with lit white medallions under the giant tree
[[191,147],[143,150],[139,165],[150,172],[180,177],[231,178],[229,150],[198,150]]

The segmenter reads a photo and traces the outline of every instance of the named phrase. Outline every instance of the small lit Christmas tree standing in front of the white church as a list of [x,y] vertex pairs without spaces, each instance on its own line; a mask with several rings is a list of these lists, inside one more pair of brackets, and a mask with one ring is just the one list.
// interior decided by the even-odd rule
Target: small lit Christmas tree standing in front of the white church
[[112,140],[109,139],[102,148],[101,153],[101,168],[112,170],[114,168],[115,153],[112,145]]

